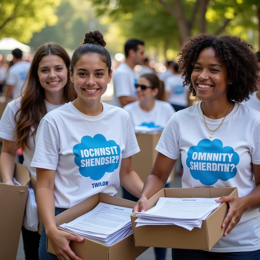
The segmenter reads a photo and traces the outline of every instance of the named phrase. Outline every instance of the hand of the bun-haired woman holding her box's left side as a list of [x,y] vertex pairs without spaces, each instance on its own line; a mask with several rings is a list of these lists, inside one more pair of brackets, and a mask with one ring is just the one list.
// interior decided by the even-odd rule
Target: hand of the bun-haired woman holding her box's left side
[[84,241],[83,237],[74,236],[68,232],[56,228],[56,230],[54,229],[48,234],[48,239],[50,240],[59,260],[83,260],[82,258],[76,256],[69,247],[70,241],[82,242]]

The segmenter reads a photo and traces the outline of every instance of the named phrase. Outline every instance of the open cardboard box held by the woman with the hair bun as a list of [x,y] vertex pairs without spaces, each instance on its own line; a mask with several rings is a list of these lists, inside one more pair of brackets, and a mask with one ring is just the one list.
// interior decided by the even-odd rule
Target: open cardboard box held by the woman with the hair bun
[[[96,207],[99,202],[104,202],[104,203],[113,204],[122,207],[130,207],[130,208],[133,208],[136,204],[135,202],[132,202],[130,200],[110,196],[104,193],[98,193],[57,215],[55,217],[56,226],[61,225],[63,223],[68,223],[86,214],[90,210],[94,209],[94,207]],[[63,230],[61,228],[58,229]],[[74,234],[73,232],[69,232],[69,233]],[[87,259],[133,260],[148,249],[147,247],[135,246],[133,233],[121,239],[120,241],[116,242],[113,245],[105,245],[93,241],[86,237],[84,238],[83,242],[79,243],[79,242],[70,241],[69,245],[72,251],[76,254],[76,256],[79,256],[84,260]],[[53,247],[51,246],[51,243],[48,240],[48,237],[47,237],[47,251],[52,254],[55,254]]]

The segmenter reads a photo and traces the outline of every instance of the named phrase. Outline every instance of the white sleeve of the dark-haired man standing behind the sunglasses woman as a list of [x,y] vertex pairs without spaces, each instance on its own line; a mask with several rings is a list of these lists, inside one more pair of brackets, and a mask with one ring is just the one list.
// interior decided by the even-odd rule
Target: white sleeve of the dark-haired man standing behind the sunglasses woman
[[114,87],[116,97],[132,96],[131,80],[129,81],[126,73],[118,73],[114,75]]

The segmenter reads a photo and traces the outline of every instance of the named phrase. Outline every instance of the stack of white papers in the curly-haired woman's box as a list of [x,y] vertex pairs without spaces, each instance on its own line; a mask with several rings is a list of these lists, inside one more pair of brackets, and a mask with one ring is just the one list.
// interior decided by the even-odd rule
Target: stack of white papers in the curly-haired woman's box
[[159,198],[146,212],[139,212],[136,227],[144,225],[177,225],[188,230],[201,228],[202,221],[221,203],[218,198]]

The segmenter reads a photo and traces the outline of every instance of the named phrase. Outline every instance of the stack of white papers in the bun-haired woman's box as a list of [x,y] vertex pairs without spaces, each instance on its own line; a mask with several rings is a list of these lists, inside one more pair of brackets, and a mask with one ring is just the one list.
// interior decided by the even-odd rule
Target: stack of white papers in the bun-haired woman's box
[[133,232],[130,218],[132,210],[100,202],[93,210],[60,227],[111,245]]

